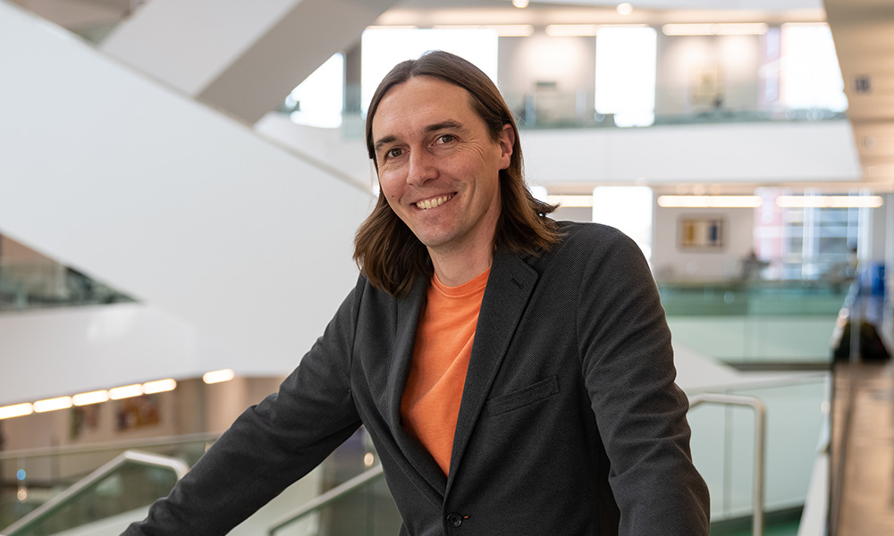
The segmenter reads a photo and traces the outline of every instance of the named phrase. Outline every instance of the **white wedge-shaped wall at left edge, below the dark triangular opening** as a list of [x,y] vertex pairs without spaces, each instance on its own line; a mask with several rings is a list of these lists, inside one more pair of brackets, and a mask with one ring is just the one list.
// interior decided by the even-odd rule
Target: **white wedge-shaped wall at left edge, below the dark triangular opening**
[[0,406],[248,361],[190,323],[133,303],[0,314],[0,340]]

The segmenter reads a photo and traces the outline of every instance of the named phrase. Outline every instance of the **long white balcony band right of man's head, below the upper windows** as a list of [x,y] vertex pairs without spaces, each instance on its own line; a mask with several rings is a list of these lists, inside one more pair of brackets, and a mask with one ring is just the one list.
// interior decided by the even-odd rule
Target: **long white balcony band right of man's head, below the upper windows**
[[848,121],[525,130],[536,183],[778,183],[861,177]]

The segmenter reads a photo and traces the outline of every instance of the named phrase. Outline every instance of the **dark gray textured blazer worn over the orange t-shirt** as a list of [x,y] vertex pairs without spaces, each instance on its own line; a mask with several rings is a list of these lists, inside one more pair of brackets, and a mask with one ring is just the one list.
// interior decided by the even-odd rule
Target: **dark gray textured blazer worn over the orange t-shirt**
[[645,259],[617,230],[561,225],[565,238],[544,255],[494,255],[449,477],[401,426],[428,281],[397,299],[361,277],[279,392],[125,534],[225,534],[360,424],[401,536],[708,534]]

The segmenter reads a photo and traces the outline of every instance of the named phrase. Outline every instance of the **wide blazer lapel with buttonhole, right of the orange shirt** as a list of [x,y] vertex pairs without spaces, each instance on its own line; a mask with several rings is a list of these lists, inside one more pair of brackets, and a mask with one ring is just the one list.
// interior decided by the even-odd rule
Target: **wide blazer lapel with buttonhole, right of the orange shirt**
[[469,436],[485,405],[493,379],[500,370],[500,364],[538,277],[539,273],[519,256],[502,250],[494,253],[485,297],[478,314],[472,356],[462,391],[460,416],[453,437],[448,492],[453,475],[462,461]]

